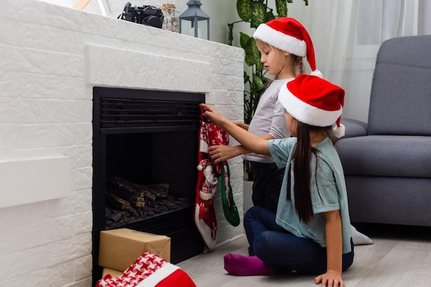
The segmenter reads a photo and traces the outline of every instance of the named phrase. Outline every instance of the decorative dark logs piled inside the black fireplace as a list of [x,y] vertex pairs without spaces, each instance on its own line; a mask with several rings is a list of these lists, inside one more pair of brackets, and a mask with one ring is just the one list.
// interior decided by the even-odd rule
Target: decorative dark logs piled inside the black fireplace
[[137,184],[115,176],[106,180],[106,228],[123,226],[169,211],[193,206],[188,198],[169,193],[169,184]]

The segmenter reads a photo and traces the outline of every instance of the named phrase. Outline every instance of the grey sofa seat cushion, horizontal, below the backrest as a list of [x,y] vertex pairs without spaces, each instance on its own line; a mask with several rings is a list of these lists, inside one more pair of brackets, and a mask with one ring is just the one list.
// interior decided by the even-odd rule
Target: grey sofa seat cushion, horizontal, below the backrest
[[335,147],[346,175],[431,178],[429,136],[341,138]]

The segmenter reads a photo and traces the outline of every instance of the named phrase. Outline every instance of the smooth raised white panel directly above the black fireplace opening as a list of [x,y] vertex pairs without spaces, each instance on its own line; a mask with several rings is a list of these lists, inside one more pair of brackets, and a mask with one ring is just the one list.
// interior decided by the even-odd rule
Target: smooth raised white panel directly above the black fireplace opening
[[199,59],[195,56],[195,59],[190,59],[189,54],[175,56],[172,51],[158,51],[158,54],[154,54],[107,45],[86,45],[85,48],[89,84],[207,94],[211,92],[211,64],[204,57]]

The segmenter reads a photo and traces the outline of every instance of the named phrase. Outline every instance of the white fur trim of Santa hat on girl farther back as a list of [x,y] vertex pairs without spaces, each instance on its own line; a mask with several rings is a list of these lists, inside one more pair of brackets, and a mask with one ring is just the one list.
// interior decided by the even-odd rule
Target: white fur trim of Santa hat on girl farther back
[[260,24],[259,27],[257,27],[253,38],[264,41],[269,45],[297,56],[304,57],[307,55],[307,45],[305,41],[277,31],[266,24]]

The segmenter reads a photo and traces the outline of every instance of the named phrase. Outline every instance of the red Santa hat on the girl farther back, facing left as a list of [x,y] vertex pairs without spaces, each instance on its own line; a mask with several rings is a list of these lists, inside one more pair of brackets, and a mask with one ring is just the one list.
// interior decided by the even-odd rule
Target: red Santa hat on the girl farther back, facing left
[[311,74],[322,78],[322,73],[316,69],[311,37],[297,20],[282,17],[260,24],[253,34],[253,38],[296,56],[306,56],[311,67]]

